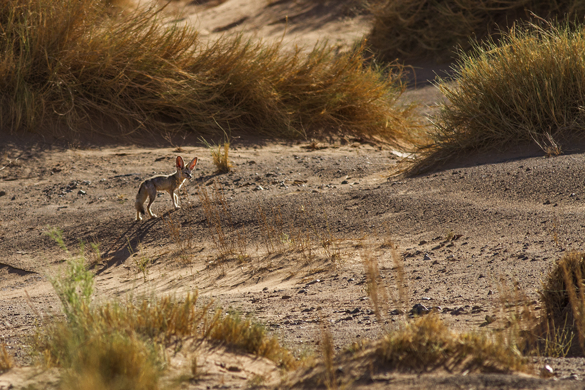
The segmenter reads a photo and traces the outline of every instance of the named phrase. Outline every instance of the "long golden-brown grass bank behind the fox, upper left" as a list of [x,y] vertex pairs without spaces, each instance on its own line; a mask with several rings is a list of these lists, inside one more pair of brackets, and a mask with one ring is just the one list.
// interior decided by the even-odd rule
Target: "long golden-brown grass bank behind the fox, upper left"
[[202,43],[155,9],[116,13],[106,0],[2,2],[0,25],[4,133],[408,133],[398,78],[365,65],[362,49]]

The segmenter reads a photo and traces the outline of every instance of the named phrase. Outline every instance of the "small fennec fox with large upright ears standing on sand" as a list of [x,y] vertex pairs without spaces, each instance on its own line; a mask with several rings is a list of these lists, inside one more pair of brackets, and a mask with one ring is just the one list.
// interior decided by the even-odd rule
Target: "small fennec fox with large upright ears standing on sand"
[[154,215],[150,210],[150,205],[152,205],[152,202],[154,202],[157,191],[167,191],[173,200],[173,207],[178,209],[178,195],[175,193],[175,191],[178,191],[178,189],[181,188],[181,185],[183,185],[185,180],[191,178],[191,170],[195,167],[195,164],[197,164],[197,157],[194,157],[189,165],[185,167],[183,157],[177,156],[177,171],[174,172],[174,174],[156,175],[149,177],[140,183],[140,188],[138,189],[138,194],[136,194],[135,203],[136,220],[142,220],[142,216],[140,214],[146,215],[146,212],[144,212],[144,201],[146,201],[146,198],[149,198],[146,211],[148,212],[150,218],[156,218],[156,215]]

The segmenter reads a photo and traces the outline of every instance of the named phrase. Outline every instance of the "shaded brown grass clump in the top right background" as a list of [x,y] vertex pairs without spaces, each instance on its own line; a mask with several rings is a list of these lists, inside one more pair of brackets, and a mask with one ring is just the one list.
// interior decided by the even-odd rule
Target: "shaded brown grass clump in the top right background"
[[373,5],[368,40],[386,60],[452,60],[455,51],[472,49],[471,38],[498,39],[512,23],[534,16],[573,20],[585,14],[579,0],[392,0]]

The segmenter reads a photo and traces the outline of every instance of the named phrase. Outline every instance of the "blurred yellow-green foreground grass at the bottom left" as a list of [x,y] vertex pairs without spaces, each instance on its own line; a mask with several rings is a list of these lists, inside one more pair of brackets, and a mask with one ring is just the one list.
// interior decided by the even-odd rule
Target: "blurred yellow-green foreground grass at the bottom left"
[[[49,235],[63,244],[60,230]],[[196,292],[183,301],[165,296],[91,305],[94,274],[84,262],[72,256],[66,274],[53,281],[66,319],[53,318],[37,334],[44,363],[64,369],[63,388],[156,389],[166,367],[165,348],[187,338],[241,348],[286,369],[297,364],[259,323],[233,313],[224,316],[221,310],[210,315],[212,302],[199,305]]]

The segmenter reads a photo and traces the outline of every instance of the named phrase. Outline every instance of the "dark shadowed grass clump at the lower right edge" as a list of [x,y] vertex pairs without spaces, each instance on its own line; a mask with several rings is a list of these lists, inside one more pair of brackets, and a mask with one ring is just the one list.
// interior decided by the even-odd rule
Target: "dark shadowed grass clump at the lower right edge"
[[543,315],[538,341],[554,341],[563,356],[585,354],[584,278],[585,253],[569,253],[556,262],[539,291]]

